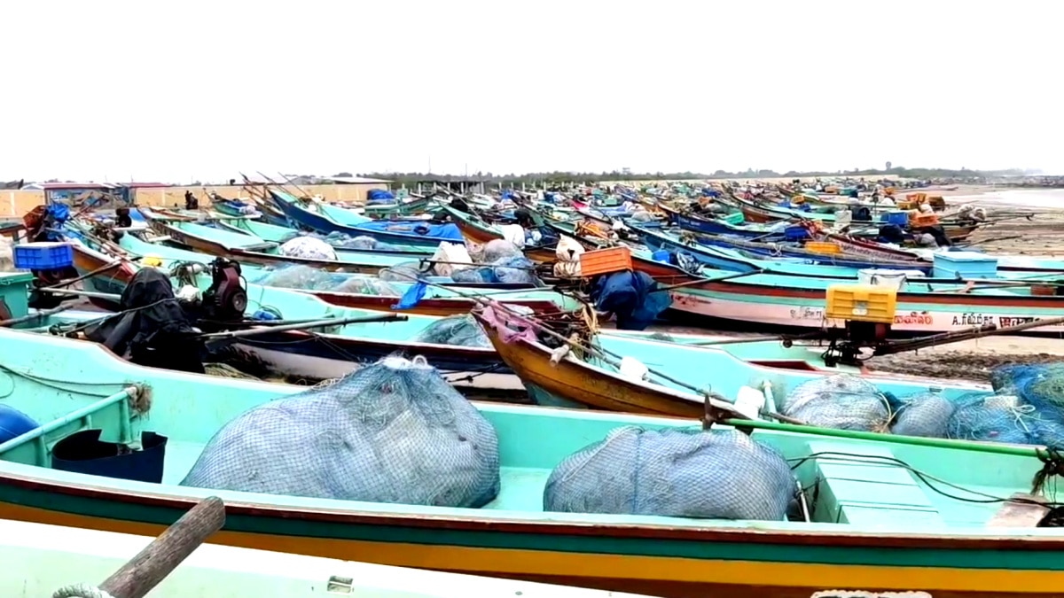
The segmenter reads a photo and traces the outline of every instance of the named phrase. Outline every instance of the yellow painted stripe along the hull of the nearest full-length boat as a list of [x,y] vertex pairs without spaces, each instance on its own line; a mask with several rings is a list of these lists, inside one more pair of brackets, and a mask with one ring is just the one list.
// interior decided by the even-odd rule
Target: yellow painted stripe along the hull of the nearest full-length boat
[[[0,518],[149,536],[157,535],[165,528],[153,524],[88,517],[14,504],[0,504]],[[753,583],[781,588],[810,588],[811,592],[825,588],[876,587],[932,593],[942,591],[950,594],[1000,592],[1002,588],[1008,588],[1014,594],[1055,594],[1064,586],[1064,571],[1045,570],[709,561],[433,546],[231,531],[211,536],[211,543],[473,575],[616,579],[619,580],[618,587],[622,586],[624,580],[737,585]]]

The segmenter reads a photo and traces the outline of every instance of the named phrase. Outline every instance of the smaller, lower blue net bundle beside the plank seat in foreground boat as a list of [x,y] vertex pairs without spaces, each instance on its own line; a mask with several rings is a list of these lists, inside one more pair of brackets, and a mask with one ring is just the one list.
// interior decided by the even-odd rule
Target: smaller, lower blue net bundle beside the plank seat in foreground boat
[[545,511],[783,520],[796,493],[786,461],[736,430],[618,428],[563,460]]

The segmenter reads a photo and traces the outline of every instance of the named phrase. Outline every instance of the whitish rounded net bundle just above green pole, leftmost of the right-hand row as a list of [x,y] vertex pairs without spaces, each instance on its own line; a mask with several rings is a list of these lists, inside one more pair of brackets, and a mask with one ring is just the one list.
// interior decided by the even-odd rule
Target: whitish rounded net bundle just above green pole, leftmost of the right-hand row
[[780,412],[812,426],[864,432],[885,432],[893,415],[887,396],[852,373],[799,384]]

